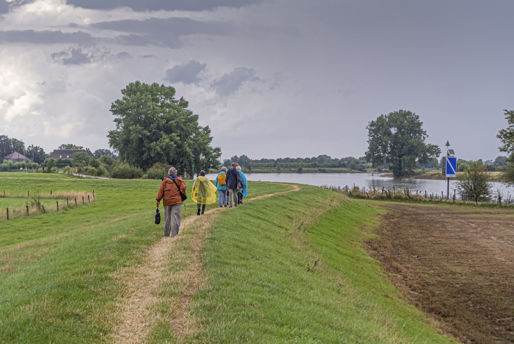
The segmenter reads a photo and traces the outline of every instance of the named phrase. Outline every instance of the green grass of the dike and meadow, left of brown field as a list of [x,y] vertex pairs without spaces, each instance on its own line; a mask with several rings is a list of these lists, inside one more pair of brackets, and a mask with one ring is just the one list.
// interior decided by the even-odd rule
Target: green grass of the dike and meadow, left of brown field
[[[379,213],[366,202],[251,183],[250,199],[235,209],[212,205],[196,216],[189,198],[179,237],[166,240],[153,223],[158,186],[1,173],[0,191],[96,195],[85,206],[0,222],[1,341],[136,342],[120,329],[126,314],[142,312],[136,334],[148,343],[454,342],[405,304],[362,249]],[[164,263],[154,268],[159,247]],[[155,274],[146,276],[147,266]],[[145,283],[147,312],[125,313],[143,303],[131,295]]]

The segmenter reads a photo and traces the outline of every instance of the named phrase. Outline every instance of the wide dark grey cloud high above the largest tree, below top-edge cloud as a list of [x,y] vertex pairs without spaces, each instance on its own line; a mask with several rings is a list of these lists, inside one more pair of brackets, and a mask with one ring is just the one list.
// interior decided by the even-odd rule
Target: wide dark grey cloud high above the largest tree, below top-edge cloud
[[91,25],[91,27],[120,32],[120,35],[115,39],[117,44],[155,45],[172,49],[182,47],[181,37],[188,34],[228,35],[235,30],[232,25],[227,23],[196,21],[182,17],[100,22]]

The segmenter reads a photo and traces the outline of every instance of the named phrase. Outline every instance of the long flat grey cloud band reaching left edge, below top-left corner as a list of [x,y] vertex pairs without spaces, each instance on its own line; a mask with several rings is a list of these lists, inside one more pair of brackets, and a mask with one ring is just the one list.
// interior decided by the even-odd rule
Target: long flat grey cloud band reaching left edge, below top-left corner
[[94,39],[86,32],[62,32],[62,31],[35,31],[35,30],[10,30],[0,31],[0,43],[76,43],[90,44]]

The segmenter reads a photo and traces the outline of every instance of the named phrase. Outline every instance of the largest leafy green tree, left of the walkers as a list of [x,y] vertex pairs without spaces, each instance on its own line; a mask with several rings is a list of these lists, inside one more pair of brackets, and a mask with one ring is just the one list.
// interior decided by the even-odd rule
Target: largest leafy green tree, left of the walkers
[[174,165],[179,173],[217,167],[221,149],[212,148],[209,126],[198,124],[189,103],[175,99],[175,88],[139,81],[121,90],[111,105],[116,130],[107,137],[119,159],[142,169],[156,162]]

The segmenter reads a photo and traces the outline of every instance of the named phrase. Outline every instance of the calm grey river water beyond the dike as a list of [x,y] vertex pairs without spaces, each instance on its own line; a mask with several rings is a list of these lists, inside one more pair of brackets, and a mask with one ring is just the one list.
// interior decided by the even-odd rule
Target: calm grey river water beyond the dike
[[[450,197],[454,194],[458,198],[458,191],[456,190],[455,178],[450,178],[449,190],[447,180],[432,180],[432,179],[411,179],[411,178],[392,178],[382,177],[379,174],[371,173],[245,173],[246,178],[251,183],[254,182],[286,182],[298,183],[314,186],[328,186],[340,188],[353,188],[359,187],[360,190],[365,188],[366,191],[377,190],[403,190],[409,189],[411,194],[427,194],[447,196],[449,192]],[[210,180],[216,178],[216,174],[208,174]],[[514,196],[514,188],[507,187],[502,183],[491,182],[491,195],[498,194],[500,190],[504,200],[508,200],[509,196]]]

